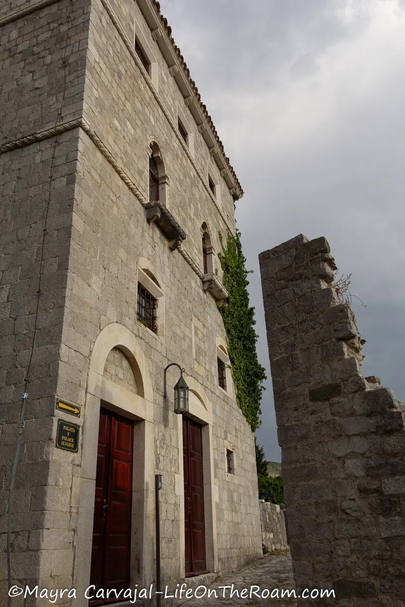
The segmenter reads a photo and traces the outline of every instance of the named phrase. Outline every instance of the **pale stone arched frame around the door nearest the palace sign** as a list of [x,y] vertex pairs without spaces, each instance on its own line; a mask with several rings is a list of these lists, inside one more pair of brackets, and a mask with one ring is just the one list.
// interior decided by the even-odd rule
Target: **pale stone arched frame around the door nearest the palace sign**
[[[134,371],[138,394],[104,377],[104,364],[112,348],[119,348]],[[90,358],[83,449],[79,476],[73,477],[72,507],[77,507],[77,537],[73,569],[78,605],[87,606],[94,518],[100,406],[134,419],[134,466],[132,481],[131,587],[146,587],[154,572],[154,399],[151,376],[137,337],[123,325],[107,325],[98,335]],[[83,590],[83,591],[82,591]],[[82,603],[83,601],[83,603]]]

